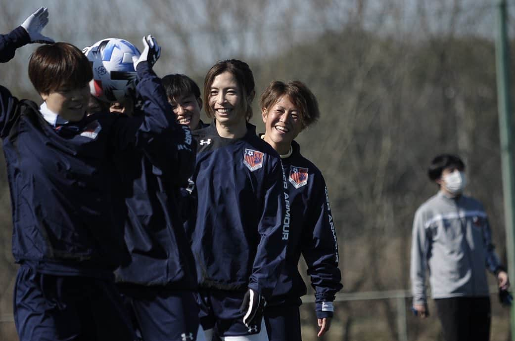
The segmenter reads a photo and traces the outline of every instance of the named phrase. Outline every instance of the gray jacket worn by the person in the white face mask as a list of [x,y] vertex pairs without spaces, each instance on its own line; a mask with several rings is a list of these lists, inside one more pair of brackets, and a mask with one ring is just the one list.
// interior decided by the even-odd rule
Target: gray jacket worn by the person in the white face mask
[[419,207],[411,240],[413,304],[426,303],[426,270],[433,298],[489,296],[485,266],[492,273],[502,268],[480,202],[440,191]]

